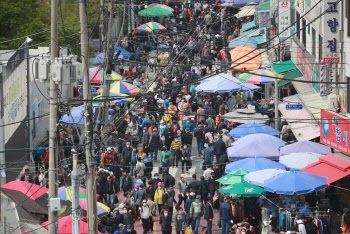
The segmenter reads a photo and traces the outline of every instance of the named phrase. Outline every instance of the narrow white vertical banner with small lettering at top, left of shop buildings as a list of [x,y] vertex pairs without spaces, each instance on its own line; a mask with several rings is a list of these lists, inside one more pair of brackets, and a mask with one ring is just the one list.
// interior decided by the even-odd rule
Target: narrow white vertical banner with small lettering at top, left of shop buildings
[[[290,36],[290,0],[279,0],[278,2],[278,33],[280,38]],[[288,28],[287,30],[285,30]]]

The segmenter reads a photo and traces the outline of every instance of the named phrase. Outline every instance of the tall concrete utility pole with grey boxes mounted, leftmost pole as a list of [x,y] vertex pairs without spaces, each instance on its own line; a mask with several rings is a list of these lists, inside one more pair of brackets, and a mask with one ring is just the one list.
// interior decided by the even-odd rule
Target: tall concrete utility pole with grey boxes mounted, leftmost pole
[[[51,0],[51,61],[58,56],[58,1]],[[53,67],[53,65],[51,65]],[[53,69],[51,69],[52,71]],[[49,133],[49,198],[57,197],[56,186],[56,146],[57,146],[58,85],[50,80],[50,133]],[[58,228],[57,212],[49,207],[49,233]]]

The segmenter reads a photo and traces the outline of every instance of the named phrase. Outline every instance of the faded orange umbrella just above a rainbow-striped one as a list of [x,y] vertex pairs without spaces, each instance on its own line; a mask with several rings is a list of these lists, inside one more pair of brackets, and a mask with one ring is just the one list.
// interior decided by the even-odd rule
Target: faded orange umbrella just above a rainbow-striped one
[[[254,47],[243,45],[230,51],[231,67],[238,70],[258,70],[261,66],[259,50]],[[249,62],[248,62],[249,61]]]

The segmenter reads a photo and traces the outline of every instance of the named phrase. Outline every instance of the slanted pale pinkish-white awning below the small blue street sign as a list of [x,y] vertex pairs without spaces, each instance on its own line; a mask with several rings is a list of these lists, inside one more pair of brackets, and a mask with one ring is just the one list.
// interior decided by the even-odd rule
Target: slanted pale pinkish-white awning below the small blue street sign
[[311,114],[305,109],[301,110],[286,110],[286,105],[303,104],[298,99],[298,96],[291,96],[288,102],[283,102],[278,105],[282,116],[288,122],[290,129],[298,141],[308,141],[320,136],[320,126],[313,119]]

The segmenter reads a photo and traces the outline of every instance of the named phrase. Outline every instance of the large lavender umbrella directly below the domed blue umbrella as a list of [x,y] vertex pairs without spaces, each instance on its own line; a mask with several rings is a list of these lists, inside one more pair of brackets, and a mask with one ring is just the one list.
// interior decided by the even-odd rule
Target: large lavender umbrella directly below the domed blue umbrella
[[230,160],[250,157],[278,159],[279,150],[276,146],[252,141],[227,148],[227,155]]

